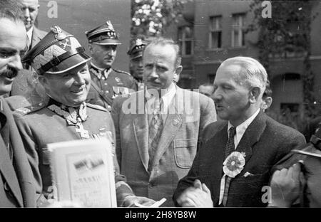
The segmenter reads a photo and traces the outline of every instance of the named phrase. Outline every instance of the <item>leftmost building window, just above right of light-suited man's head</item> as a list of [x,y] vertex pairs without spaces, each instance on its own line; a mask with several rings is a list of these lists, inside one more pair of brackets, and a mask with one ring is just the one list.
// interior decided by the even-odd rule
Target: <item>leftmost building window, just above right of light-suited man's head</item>
[[193,28],[183,26],[178,28],[178,43],[182,56],[190,56],[193,54]]

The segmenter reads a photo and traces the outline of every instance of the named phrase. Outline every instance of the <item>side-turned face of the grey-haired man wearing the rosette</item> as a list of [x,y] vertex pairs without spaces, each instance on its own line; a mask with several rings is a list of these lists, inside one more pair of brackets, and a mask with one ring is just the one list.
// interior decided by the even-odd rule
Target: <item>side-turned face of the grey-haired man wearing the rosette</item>
[[246,120],[250,107],[250,90],[238,82],[240,70],[240,65],[221,65],[214,80],[216,112],[220,119],[230,120],[232,124]]

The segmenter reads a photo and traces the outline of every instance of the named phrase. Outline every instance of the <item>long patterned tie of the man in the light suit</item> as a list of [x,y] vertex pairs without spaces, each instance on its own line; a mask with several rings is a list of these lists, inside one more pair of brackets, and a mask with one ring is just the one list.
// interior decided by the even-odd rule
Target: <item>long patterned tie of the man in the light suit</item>
[[149,169],[156,154],[161,132],[163,131],[163,120],[161,117],[161,99],[156,97],[153,107],[153,116],[151,118],[151,125],[149,126],[148,136],[148,154],[149,154]]

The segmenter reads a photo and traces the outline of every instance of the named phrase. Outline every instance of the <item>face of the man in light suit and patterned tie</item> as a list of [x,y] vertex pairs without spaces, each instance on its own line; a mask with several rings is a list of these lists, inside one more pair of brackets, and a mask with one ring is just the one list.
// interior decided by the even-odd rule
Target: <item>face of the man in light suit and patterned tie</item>
[[170,45],[147,46],[143,53],[143,80],[147,89],[167,89],[180,73],[175,67],[176,53]]

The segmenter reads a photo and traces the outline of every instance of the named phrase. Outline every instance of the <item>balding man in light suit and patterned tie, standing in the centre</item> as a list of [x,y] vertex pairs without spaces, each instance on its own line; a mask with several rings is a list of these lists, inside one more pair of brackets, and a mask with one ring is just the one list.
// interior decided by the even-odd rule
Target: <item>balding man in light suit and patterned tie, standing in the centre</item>
[[173,206],[171,196],[190,169],[198,139],[216,120],[213,100],[173,83],[182,70],[178,52],[172,40],[151,41],[143,52],[145,90],[117,97],[112,107],[121,174],[136,195],[165,197],[163,206]]

